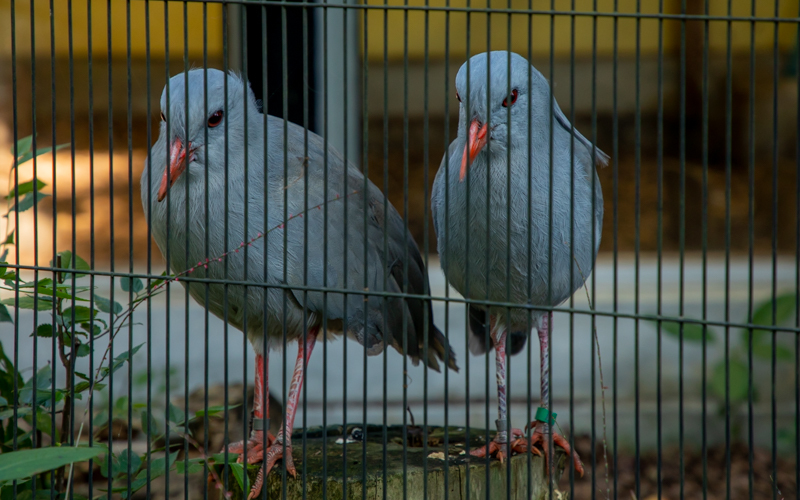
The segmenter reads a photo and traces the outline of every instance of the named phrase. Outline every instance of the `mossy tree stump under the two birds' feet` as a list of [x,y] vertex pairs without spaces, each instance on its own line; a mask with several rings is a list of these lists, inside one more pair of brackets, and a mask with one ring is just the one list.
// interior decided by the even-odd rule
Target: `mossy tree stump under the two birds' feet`
[[[449,428],[448,461],[444,458],[444,428],[430,427],[428,430],[428,447],[423,448],[423,434],[421,427],[408,426],[406,450],[406,472],[403,473],[403,427],[390,426],[386,428],[384,438],[383,427],[368,426],[366,439],[366,496],[362,479],[365,473],[363,431],[361,426],[351,425],[347,428],[347,460],[343,455],[343,428],[341,426],[328,427],[323,434],[320,427],[310,428],[306,432],[306,456],[303,461],[303,434],[298,431],[292,436],[294,446],[294,463],[297,467],[297,478],[287,476],[286,498],[305,498],[308,500],[330,499],[373,499],[386,498],[409,500],[426,499],[439,500],[447,498],[452,500],[485,499],[487,488],[490,490],[489,498],[511,498],[515,500],[539,500],[549,498],[548,480],[545,471],[544,458],[527,454],[511,457],[506,463],[501,464],[492,459],[489,462],[489,480],[486,477],[485,459],[467,459],[462,452],[465,448],[465,430],[459,427]],[[323,436],[325,436],[323,438]],[[353,439],[355,438],[355,439]],[[386,446],[384,447],[384,439]],[[470,449],[482,446],[485,435],[478,435],[473,431],[470,434]],[[325,455],[323,455],[323,442]],[[384,468],[384,452],[386,466]],[[427,455],[426,455],[427,452]],[[427,459],[426,459],[427,458]],[[567,456],[561,449],[555,455],[555,484],[564,472],[567,465]],[[323,465],[327,470],[323,471]],[[248,475],[252,484],[258,473],[260,465],[249,467]],[[510,467],[510,483],[508,468]],[[530,470],[528,470],[530,467]],[[346,494],[342,491],[344,470],[347,471]],[[469,470],[469,483],[467,483],[467,470]],[[385,474],[385,476],[384,476]],[[384,479],[385,478],[385,479]],[[427,478],[427,491],[424,478]],[[404,481],[405,479],[405,481]],[[530,496],[529,492],[530,481]],[[405,485],[405,497],[404,497]],[[509,489],[511,494],[507,496]],[[247,498],[242,493],[239,483],[230,476],[232,500]],[[554,486],[555,487],[555,486]],[[267,498],[282,498],[283,468],[282,462],[273,469],[264,487]],[[220,497],[224,500],[224,494]],[[555,498],[567,499],[563,493]]]

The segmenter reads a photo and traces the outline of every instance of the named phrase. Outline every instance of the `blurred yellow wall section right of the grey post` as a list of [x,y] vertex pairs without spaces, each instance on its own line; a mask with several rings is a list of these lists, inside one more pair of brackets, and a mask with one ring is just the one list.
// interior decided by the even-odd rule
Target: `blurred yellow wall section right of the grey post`
[[[408,5],[421,7],[444,7],[447,0],[387,0],[391,6],[402,6],[407,1]],[[775,15],[775,2],[777,0],[753,0],[756,4],[757,17],[773,17]],[[452,8],[487,8],[525,10],[532,4],[533,11],[549,11],[550,0],[450,0]],[[695,2],[697,13],[703,12],[704,2],[701,0],[688,0]],[[368,5],[384,5],[384,0],[366,0]],[[554,11],[572,10],[573,0],[554,0]],[[595,0],[574,0],[576,12],[590,12],[593,10]],[[639,2],[641,12],[657,14],[657,0]],[[746,0],[733,0],[731,15],[746,17],[751,15],[751,2]],[[597,11],[611,14],[614,12],[614,0],[596,0]],[[625,14],[636,13],[636,0],[618,0],[618,11]],[[664,12],[668,14],[680,13],[681,0],[665,0]],[[780,17],[796,18],[798,16],[798,0],[783,0],[780,2]],[[728,15],[728,0],[710,0],[710,15]],[[425,53],[425,13],[422,11],[409,11],[407,28],[404,23],[405,13],[401,10],[372,9],[367,14],[366,51],[372,61],[382,60],[384,49],[391,60],[401,60],[404,54],[404,30],[408,29],[408,54],[410,59],[422,59]],[[510,20],[509,20],[510,17]],[[447,22],[449,19],[449,32]],[[530,43],[534,56],[548,56],[550,54],[551,16],[548,14],[491,14],[491,22],[487,22],[484,13],[471,13],[469,19],[464,12],[442,11],[428,14],[428,51],[433,59],[445,57],[445,41],[449,38],[449,53],[451,57],[463,58],[469,52],[472,54],[483,52],[490,46],[492,50],[505,50],[508,48],[509,39],[511,49],[521,54],[528,54]],[[553,52],[556,57],[569,56],[575,47],[577,57],[591,56],[593,48],[593,25],[597,24],[597,53],[599,56],[610,56],[614,48],[614,18],[590,16],[575,16],[574,42],[571,25],[573,18],[568,15],[557,15],[554,18]],[[596,19],[596,21],[595,21]],[[635,55],[637,43],[637,20],[633,17],[618,18],[618,49],[621,56]],[[528,37],[528,23],[530,22],[530,42]],[[385,24],[384,24],[385,23]],[[467,26],[469,23],[469,36]],[[642,19],[640,24],[640,47],[643,56],[652,55],[658,51],[659,21],[656,19]],[[664,49],[667,53],[673,52],[680,46],[681,22],[667,20],[663,22]],[[384,26],[388,26],[388,43],[384,43]],[[510,27],[510,29],[509,29]],[[701,27],[702,29],[702,27]],[[725,21],[709,22],[709,46],[712,51],[725,51],[727,47],[728,23]],[[756,50],[769,49],[773,44],[774,23],[757,23],[755,31]],[[734,51],[749,50],[751,23],[731,23],[731,44]],[[510,33],[510,36],[509,36]],[[490,34],[490,36],[488,36]],[[796,40],[797,25],[782,23],[779,35],[782,48],[791,46]],[[487,44],[487,38],[489,44]],[[691,50],[691,48],[689,48]]]

